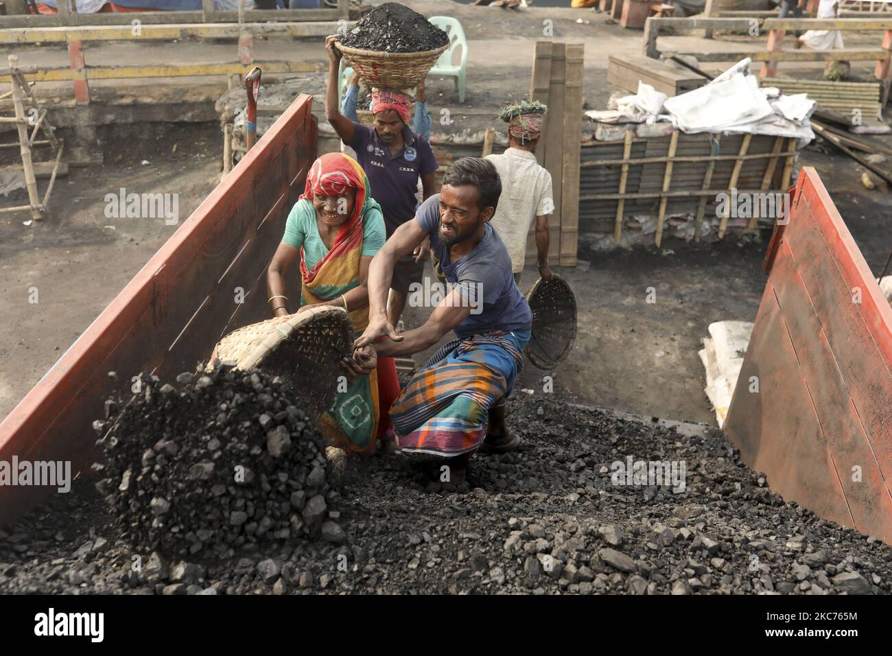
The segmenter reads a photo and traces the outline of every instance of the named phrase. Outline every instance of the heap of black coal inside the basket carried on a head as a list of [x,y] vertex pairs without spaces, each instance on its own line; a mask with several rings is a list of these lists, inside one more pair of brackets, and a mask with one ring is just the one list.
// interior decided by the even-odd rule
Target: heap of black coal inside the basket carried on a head
[[418,12],[399,3],[378,5],[339,39],[359,50],[423,53],[449,43],[449,35]]

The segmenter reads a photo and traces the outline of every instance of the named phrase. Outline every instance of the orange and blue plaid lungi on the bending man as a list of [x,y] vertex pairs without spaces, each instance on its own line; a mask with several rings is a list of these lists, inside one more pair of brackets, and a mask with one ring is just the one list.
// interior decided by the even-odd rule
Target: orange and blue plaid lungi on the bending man
[[474,451],[486,436],[488,411],[514,388],[529,341],[526,329],[444,345],[392,405],[401,450],[442,456]]

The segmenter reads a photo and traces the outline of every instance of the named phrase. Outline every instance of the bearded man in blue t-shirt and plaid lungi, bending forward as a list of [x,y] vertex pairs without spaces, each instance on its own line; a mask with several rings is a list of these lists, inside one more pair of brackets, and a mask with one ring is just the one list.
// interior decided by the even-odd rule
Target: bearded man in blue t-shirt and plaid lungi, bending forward
[[[356,368],[365,371],[379,355],[419,353],[455,331],[458,339],[417,371],[391,408],[401,450],[449,458],[453,484],[464,481],[478,447],[504,453],[519,442],[505,426],[504,403],[523,364],[533,313],[489,224],[500,194],[492,162],[465,157],[450,165],[440,194],[422,203],[369,265],[368,328],[354,345]],[[426,238],[447,291],[421,328],[398,334],[385,311],[393,266]]]

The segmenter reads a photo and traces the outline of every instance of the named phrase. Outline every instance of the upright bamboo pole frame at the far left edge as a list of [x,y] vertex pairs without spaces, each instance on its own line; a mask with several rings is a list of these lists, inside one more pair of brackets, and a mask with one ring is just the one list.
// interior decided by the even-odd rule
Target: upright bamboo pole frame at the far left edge
[[[24,210],[29,210],[31,212],[32,220],[40,220],[42,218],[43,212],[46,211],[47,203],[49,203],[50,200],[50,194],[53,193],[56,174],[59,171],[59,164],[62,162],[62,140],[56,138],[53,126],[48,120],[46,120],[46,110],[41,109],[39,104],[37,104],[37,97],[34,95],[31,86],[25,79],[23,71],[19,68],[19,57],[17,55],[9,55],[9,70],[0,71],[0,74],[10,75],[10,86],[12,87],[9,92],[5,93],[4,95],[0,95],[0,99],[11,95],[12,107],[15,112],[15,116],[0,117],[0,122],[15,123],[16,125],[19,136],[19,152],[21,153],[21,165],[25,174],[25,187],[28,190],[29,200],[29,204],[27,205],[16,205],[14,207],[0,208],[0,213],[21,212]],[[25,115],[26,104],[29,105],[29,110],[37,112],[36,120],[29,119],[29,117]],[[34,130],[30,135],[28,134],[29,125],[34,126]],[[34,137],[37,137],[37,130],[39,129],[43,129],[44,134],[47,138],[45,140],[35,141]],[[56,153],[56,159],[53,166],[53,172],[50,175],[49,185],[46,187],[43,201],[41,201],[40,196],[37,194],[37,177],[34,174],[34,162],[31,159],[31,147],[34,145],[44,144],[53,145],[54,148],[58,149],[58,152]],[[15,144],[4,144],[4,146],[14,147]]]

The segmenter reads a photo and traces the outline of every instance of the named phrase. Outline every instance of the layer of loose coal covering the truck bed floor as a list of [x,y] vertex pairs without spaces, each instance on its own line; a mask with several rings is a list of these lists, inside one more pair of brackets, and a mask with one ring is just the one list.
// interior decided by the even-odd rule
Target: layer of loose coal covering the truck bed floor
[[[135,548],[76,481],[0,529],[0,592],[892,592],[892,547],[785,502],[714,428],[690,435],[549,394],[513,398],[508,422],[520,449],[475,455],[461,486],[432,484],[438,461],[339,457],[329,506],[343,529],[224,559]],[[627,485],[612,469],[629,456],[685,462],[684,485]]]

